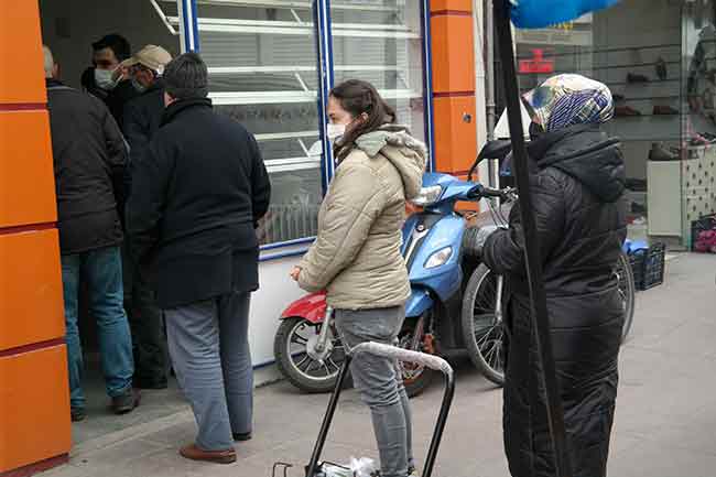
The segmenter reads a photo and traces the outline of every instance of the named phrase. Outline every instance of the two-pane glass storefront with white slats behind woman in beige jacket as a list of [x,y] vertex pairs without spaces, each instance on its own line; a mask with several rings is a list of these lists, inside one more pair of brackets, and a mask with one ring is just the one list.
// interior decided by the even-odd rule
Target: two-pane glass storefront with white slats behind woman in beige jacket
[[[321,147],[319,91],[367,79],[419,138],[425,130],[423,2],[334,0],[321,30],[315,8],[327,2],[198,0],[198,48],[209,67],[216,109],[256,134],[273,196],[262,245],[308,239],[333,167]],[[319,33],[321,32],[321,33]],[[316,45],[333,39],[322,85]],[[324,82],[325,83],[325,82]]]

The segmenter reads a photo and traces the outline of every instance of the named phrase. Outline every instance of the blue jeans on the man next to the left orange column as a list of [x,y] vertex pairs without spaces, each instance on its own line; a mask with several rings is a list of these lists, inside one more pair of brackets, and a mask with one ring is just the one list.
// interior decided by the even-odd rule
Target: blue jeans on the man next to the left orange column
[[119,247],[62,256],[65,342],[72,408],[85,406],[85,395],[82,390],[83,353],[77,327],[77,296],[80,280],[87,282],[89,313],[97,321],[107,394],[115,398],[131,391],[134,373],[132,338],[122,306],[122,262]]

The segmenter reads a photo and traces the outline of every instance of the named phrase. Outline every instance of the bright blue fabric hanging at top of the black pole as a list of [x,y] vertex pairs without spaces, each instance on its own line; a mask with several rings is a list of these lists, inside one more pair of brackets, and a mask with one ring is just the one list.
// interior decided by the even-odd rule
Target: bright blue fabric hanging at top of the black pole
[[577,19],[619,0],[512,0],[512,22],[521,29],[542,29]]

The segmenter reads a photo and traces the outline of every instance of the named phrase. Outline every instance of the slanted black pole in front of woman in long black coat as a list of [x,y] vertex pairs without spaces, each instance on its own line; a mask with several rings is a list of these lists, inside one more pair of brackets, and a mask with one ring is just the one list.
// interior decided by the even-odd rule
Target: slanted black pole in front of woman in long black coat
[[566,431],[564,426],[564,410],[560,397],[554,355],[552,353],[552,339],[550,337],[550,318],[547,315],[544,281],[542,279],[542,259],[540,257],[536,224],[532,212],[528,155],[524,144],[524,131],[522,130],[520,90],[517,84],[514,52],[512,50],[510,8],[510,0],[495,0],[495,24],[497,26],[500,63],[502,64],[505,93],[507,97],[507,113],[510,124],[510,138],[512,140],[512,166],[514,167],[514,176],[520,195],[527,275],[532,302],[532,322],[536,332],[536,343],[542,361],[547,400],[547,416],[556,463],[556,477],[572,477],[572,466],[567,453]]

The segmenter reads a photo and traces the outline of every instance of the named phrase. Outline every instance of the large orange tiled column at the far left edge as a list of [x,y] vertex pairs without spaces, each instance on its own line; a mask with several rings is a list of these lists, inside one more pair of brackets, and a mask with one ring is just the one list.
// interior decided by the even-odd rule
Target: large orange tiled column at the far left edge
[[0,7],[0,476],[67,459],[67,358],[36,0]]

